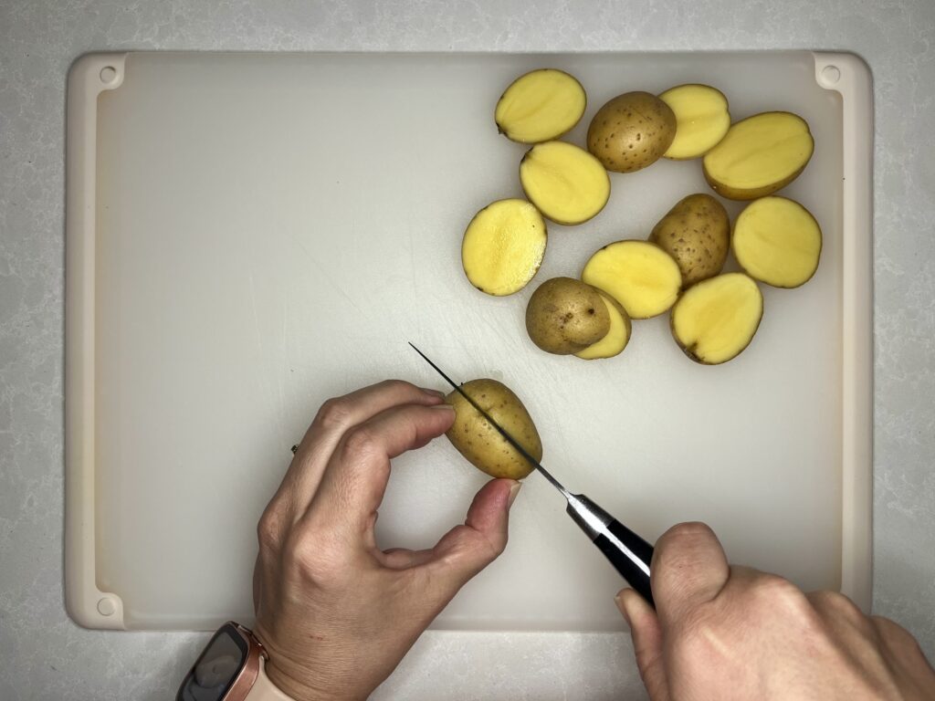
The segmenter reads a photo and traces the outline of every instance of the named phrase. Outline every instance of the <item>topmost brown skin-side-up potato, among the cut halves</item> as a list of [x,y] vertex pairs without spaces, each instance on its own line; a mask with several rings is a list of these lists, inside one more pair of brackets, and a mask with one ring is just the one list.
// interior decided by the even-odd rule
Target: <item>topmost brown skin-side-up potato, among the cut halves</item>
[[632,173],[652,165],[675,138],[675,113],[652,93],[617,95],[597,110],[587,150],[608,170]]

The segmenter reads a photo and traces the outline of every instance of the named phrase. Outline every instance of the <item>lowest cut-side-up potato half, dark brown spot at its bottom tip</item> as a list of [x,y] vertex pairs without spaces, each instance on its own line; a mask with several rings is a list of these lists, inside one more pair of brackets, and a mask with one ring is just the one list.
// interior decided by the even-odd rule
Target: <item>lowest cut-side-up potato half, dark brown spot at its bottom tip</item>
[[743,273],[725,273],[688,288],[672,308],[672,336],[702,365],[720,365],[750,345],[763,318],[763,294]]

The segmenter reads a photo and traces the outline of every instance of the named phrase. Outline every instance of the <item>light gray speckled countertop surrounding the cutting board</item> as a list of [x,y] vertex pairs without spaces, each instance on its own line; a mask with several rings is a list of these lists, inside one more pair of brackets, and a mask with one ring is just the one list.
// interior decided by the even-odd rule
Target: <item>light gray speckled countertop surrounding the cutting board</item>
[[[171,697],[206,637],[62,581],[65,75],[89,50],[851,50],[874,77],[875,613],[935,656],[935,3],[0,0],[0,698]],[[375,698],[644,694],[627,637],[431,633]]]

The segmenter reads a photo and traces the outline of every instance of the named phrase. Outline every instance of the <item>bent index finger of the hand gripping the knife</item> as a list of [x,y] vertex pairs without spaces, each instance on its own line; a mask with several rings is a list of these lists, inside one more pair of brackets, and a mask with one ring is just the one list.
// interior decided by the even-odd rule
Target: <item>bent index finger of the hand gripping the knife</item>
[[679,523],[655,544],[650,583],[663,627],[678,625],[712,601],[727,582],[730,565],[720,541],[705,523]]

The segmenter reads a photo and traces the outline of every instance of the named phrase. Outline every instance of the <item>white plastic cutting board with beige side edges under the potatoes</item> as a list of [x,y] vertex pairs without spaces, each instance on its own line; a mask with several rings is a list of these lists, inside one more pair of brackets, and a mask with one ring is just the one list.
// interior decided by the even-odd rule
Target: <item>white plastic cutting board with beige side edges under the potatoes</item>
[[[821,223],[821,265],[798,290],[764,288],[762,325],[735,361],[690,362],[665,316],[634,322],[606,361],[550,356],[525,336],[539,282],[578,275],[600,246],[644,238],[684,195],[710,192],[698,161],[612,175],[596,219],[550,224],[523,292],[468,284],[471,216],[522,196],[525,147],[497,135],[496,99],[543,65],[587,90],[568,136],[579,144],[614,94],[694,81],[726,93],[735,119],[787,109],[811,125],[813,160],[783,194]],[[444,389],[410,340],[455,379],[510,385],[543,464],[648,539],[709,522],[733,561],[869,604],[863,64],[809,52],[137,53],[85,57],[70,80],[67,590],[79,622],[249,621],[255,523],[324,399],[384,378]],[[444,438],[399,458],[381,545],[430,546],[484,479]],[[618,627],[622,582],[563,507],[527,479],[507,551],[436,625]]]

